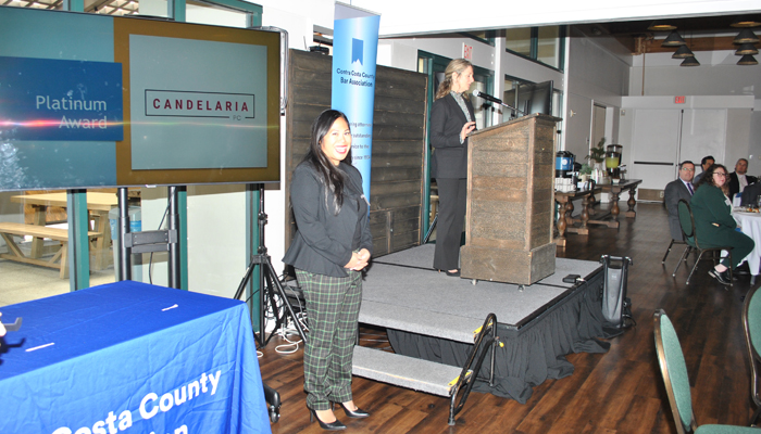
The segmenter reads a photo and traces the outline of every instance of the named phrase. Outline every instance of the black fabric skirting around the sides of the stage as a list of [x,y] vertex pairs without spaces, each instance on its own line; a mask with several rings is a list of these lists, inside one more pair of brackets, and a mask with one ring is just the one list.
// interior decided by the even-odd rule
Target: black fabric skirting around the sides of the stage
[[[495,385],[489,386],[488,356],[478,373],[474,391],[491,393],[525,404],[533,387],[547,379],[562,379],[573,373],[565,359],[571,353],[606,353],[610,347],[601,311],[603,272],[598,269],[587,281],[523,327],[499,324],[503,346],[497,346]],[[387,329],[397,354],[451,366],[464,366],[473,345],[427,335]]]

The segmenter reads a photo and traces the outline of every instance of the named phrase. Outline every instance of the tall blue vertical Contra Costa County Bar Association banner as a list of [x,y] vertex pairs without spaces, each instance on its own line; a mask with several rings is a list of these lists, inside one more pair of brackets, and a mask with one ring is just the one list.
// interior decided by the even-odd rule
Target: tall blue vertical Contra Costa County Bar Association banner
[[351,163],[362,174],[362,190],[367,201],[379,25],[379,15],[336,3],[332,105],[349,118],[352,133]]

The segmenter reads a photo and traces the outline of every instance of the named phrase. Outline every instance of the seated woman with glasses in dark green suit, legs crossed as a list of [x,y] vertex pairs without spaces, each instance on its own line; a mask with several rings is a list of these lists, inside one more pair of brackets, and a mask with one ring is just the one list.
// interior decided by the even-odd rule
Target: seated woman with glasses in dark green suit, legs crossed
[[737,230],[737,222],[732,217],[732,202],[726,196],[728,173],[726,167],[714,164],[700,178],[690,205],[695,216],[695,229],[698,243],[703,247],[732,246],[732,264],[728,257],[708,273],[719,282],[728,285],[728,267],[734,270],[745,259],[756,243]]

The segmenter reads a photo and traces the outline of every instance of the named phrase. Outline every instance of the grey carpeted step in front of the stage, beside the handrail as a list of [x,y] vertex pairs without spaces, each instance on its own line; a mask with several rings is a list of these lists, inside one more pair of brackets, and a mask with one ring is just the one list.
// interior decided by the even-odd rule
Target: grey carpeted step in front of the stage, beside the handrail
[[447,397],[452,395],[461,371],[462,368],[359,345],[354,346],[351,370],[357,376]]

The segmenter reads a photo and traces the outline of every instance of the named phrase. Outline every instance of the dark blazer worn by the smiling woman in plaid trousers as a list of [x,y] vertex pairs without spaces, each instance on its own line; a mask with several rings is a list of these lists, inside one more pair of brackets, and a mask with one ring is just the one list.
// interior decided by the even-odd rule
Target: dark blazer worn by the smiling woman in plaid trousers
[[[346,174],[344,205],[335,215],[333,193],[324,187],[311,162],[299,164],[290,182],[290,203],[297,232],[283,261],[316,275],[347,277],[352,243],[359,231],[360,248],[373,253],[367,221],[369,204],[362,193],[362,176],[351,165],[338,166]],[[359,228],[358,228],[359,222]]]

